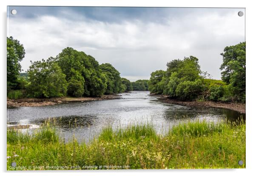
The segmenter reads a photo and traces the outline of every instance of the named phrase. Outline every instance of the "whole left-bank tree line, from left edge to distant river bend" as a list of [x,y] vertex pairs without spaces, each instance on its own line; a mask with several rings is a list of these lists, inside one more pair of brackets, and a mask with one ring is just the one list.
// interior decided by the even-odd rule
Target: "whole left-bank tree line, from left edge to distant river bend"
[[148,80],[130,82],[121,78],[110,63],[99,64],[91,55],[71,47],[63,49],[55,58],[31,61],[27,73],[20,73],[24,56],[23,45],[7,37],[7,93],[10,98],[102,96],[148,90]]

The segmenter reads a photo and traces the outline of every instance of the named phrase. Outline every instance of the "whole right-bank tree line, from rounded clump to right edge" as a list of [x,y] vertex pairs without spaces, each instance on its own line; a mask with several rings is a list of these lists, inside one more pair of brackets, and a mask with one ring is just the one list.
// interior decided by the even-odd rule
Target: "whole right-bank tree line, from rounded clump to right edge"
[[222,80],[206,79],[208,73],[201,71],[198,58],[190,56],[168,62],[166,71],[152,72],[148,89],[172,99],[245,102],[245,49],[245,42],[225,47]]

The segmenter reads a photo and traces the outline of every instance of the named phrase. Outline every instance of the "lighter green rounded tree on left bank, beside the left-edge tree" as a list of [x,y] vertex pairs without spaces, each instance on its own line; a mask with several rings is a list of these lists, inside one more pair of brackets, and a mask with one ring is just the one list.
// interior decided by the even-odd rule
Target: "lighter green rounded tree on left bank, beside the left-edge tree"
[[32,97],[60,97],[65,96],[67,81],[60,66],[53,58],[35,61],[28,70],[28,92]]

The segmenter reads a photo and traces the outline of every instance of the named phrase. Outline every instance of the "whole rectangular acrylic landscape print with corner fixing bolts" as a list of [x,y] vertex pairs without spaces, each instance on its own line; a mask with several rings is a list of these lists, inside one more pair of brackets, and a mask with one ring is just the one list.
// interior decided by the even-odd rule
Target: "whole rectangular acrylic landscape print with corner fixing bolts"
[[7,170],[245,168],[245,8],[7,6]]

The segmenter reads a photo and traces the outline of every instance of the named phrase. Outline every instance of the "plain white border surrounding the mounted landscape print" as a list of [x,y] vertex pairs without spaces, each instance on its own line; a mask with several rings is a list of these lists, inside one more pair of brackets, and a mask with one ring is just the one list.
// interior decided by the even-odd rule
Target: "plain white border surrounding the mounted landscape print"
[[3,172],[3,175],[20,175],[20,176],[30,176],[30,175],[39,175],[45,176],[46,174],[56,175],[57,171],[54,172],[21,172],[21,173],[6,173],[6,8],[7,5],[47,5],[47,6],[148,6],[148,7],[230,7],[230,8],[246,8],[246,43],[247,43],[247,71],[246,71],[246,113],[247,113],[247,129],[246,129],[246,169],[214,169],[214,170],[107,170],[107,171],[64,171],[61,174],[63,176],[72,175],[100,175],[104,174],[106,176],[110,175],[123,175],[130,176],[131,174],[147,174],[147,175],[156,175],[160,173],[161,175],[196,175],[205,176],[216,176],[219,174],[228,174],[228,175],[239,175],[256,173],[256,142],[255,142],[255,124],[256,124],[256,115],[253,115],[253,108],[255,109],[255,17],[256,17],[256,6],[253,5],[253,0],[177,0],[177,1],[168,1],[168,0],[1,0],[0,1],[1,9],[1,35],[0,35],[0,49],[1,49],[1,58],[0,58],[0,103],[1,103],[1,155],[0,155],[0,170]]

